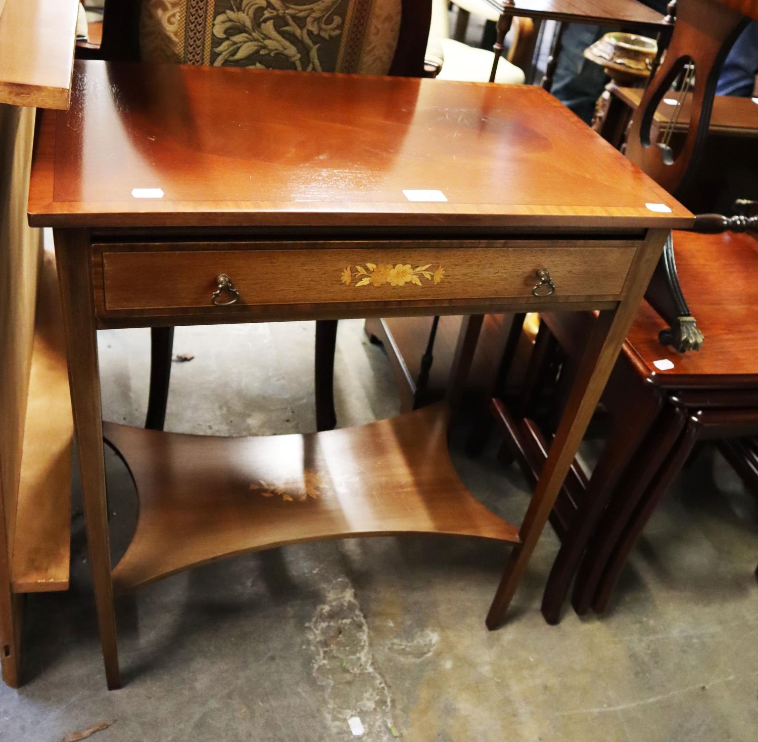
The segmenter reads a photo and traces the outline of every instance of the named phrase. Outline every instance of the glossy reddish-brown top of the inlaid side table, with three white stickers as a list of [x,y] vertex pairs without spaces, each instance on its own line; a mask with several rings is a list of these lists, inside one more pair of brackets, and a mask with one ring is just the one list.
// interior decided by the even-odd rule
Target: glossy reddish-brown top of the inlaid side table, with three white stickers
[[691,224],[534,86],[86,61],[40,128],[33,225]]

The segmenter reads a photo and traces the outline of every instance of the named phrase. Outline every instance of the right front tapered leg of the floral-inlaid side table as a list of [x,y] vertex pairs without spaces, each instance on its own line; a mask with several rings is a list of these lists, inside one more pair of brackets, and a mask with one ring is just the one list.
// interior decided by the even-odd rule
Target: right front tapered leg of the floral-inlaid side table
[[658,230],[648,232],[644,247],[637,251],[629,270],[627,285],[636,288],[634,291],[628,291],[615,310],[601,312],[595,322],[572,393],[519,531],[521,542],[511,552],[490,606],[487,615],[487,627],[490,629],[503,623],[516,587],[553,509],[590,418],[600,401],[600,395],[637,313],[647,282],[653,275],[666,234]]

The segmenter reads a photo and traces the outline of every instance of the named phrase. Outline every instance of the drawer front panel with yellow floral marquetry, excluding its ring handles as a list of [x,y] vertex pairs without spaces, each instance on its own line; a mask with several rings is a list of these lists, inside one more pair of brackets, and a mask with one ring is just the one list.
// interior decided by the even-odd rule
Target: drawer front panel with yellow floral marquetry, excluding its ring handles
[[[102,259],[105,312],[218,312],[222,308],[213,306],[211,298],[221,274],[239,292],[238,307],[531,297],[539,269],[550,272],[553,297],[613,299],[622,294],[636,249],[628,242],[588,247],[118,247],[99,246],[95,256],[96,266]],[[232,297],[224,291],[218,301]]]

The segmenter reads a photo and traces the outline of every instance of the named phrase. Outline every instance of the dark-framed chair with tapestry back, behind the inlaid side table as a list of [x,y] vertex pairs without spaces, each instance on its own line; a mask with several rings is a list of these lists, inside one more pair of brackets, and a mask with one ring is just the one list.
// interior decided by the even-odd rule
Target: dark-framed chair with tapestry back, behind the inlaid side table
[[[82,58],[424,76],[431,0],[105,0]],[[328,105],[328,101],[324,101]],[[174,328],[152,329],[146,427],[162,429]],[[316,425],[333,428],[337,321],[316,322]]]

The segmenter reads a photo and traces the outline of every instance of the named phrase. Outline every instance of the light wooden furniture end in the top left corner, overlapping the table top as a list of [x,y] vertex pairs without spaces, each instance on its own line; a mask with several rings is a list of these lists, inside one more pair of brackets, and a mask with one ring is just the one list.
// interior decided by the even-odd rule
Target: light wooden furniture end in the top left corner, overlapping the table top
[[0,103],[67,108],[79,0],[6,0],[0,14]]

